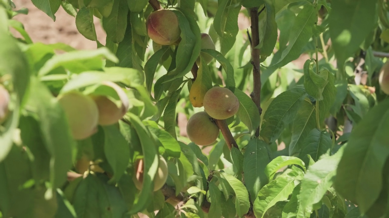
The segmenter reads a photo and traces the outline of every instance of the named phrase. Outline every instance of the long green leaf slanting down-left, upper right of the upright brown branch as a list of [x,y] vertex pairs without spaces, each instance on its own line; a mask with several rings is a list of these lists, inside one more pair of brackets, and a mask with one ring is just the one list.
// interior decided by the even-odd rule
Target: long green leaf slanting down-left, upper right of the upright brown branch
[[300,57],[303,47],[307,45],[313,34],[313,28],[316,22],[317,14],[314,6],[312,4],[304,5],[294,20],[289,34],[289,44],[275,54],[275,57],[279,58],[274,58],[274,61],[272,60],[272,64],[269,67],[279,68]]

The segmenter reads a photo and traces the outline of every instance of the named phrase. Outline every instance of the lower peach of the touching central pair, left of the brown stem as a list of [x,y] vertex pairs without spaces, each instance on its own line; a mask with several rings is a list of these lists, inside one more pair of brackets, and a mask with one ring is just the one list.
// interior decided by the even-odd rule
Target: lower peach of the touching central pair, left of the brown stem
[[193,114],[186,124],[186,133],[196,145],[212,144],[219,136],[219,132],[219,127],[211,121],[211,117],[205,111]]

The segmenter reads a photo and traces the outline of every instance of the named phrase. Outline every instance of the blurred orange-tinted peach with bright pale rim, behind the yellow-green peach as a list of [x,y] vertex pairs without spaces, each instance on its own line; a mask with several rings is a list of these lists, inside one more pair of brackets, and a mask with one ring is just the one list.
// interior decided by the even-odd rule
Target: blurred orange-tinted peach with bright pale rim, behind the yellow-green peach
[[124,114],[126,114],[129,107],[129,101],[124,90],[116,83],[105,81],[103,84],[113,88],[121,100],[121,106],[117,107],[117,105],[108,99],[105,95],[97,95],[92,97],[98,108],[98,124],[106,126],[117,123],[117,121],[119,121],[119,119],[121,119]]

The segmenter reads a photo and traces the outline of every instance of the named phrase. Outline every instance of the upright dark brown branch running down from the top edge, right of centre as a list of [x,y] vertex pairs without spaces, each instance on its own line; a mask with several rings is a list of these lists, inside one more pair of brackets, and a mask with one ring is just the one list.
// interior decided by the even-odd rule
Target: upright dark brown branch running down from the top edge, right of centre
[[[258,26],[258,7],[250,9],[251,19],[251,58],[252,58],[252,76],[254,79],[254,89],[251,93],[251,98],[258,107],[259,114],[262,113],[261,109],[261,69],[259,68],[259,49],[256,48],[259,45],[259,26]],[[255,133],[256,137],[259,137],[259,127]]]

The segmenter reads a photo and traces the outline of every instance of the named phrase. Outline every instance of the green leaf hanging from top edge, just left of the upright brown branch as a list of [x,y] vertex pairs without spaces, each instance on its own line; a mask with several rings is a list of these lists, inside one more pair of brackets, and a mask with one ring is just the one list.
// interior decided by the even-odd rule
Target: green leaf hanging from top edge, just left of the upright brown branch
[[225,55],[233,47],[238,34],[238,14],[241,8],[233,0],[219,0],[213,26],[220,36],[220,52]]

